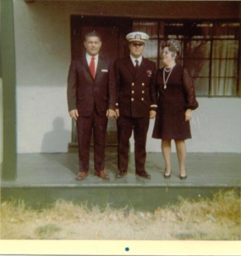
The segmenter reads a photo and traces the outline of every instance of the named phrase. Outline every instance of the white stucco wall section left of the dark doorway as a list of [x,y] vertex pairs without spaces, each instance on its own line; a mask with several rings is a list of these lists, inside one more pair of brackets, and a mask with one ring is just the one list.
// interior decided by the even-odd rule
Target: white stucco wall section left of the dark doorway
[[66,152],[70,15],[61,7],[15,0],[14,22],[17,151]]

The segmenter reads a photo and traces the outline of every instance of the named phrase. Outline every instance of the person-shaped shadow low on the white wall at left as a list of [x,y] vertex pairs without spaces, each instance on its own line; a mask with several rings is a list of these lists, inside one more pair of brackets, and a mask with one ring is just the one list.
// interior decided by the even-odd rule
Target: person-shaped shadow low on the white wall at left
[[56,117],[53,121],[53,130],[44,135],[41,152],[67,152],[68,143],[71,140],[71,131],[64,128],[62,117]]

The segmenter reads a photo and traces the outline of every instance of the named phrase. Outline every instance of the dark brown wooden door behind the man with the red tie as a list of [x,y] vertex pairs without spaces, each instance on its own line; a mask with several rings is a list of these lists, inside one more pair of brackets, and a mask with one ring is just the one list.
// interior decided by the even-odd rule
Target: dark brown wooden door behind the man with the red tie
[[[83,46],[84,35],[96,31],[102,38],[100,53],[112,61],[128,54],[128,44],[125,36],[132,30],[132,20],[128,18],[112,18],[80,15],[71,16],[71,59],[79,59],[85,54]],[[117,129],[116,120],[109,119],[107,127],[107,149],[116,150]],[[73,122],[72,142],[70,146],[77,146],[77,132]]]

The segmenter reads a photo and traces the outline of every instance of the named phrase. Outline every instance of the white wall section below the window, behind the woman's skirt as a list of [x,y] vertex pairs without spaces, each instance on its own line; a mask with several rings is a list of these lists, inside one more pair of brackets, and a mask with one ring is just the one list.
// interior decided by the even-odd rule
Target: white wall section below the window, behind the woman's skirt
[[[192,139],[186,141],[188,152],[241,152],[241,99],[199,97],[197,101],[200,106],[193,111]],[[150,152],[160,151],[160,140],[151,139],[153,126],[151,121],[147,141]]]

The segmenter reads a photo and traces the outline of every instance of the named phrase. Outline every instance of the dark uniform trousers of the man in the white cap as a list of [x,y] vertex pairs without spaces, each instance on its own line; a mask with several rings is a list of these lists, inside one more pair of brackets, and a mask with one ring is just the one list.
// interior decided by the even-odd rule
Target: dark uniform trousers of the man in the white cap
[[119,171],[127,171],[129,139],[134,133],[134,155],[136,173],[145,171],[146,162],[146,137],[150,118],[148,117],[124,117],[117,119],[118,132],[118,168]]

